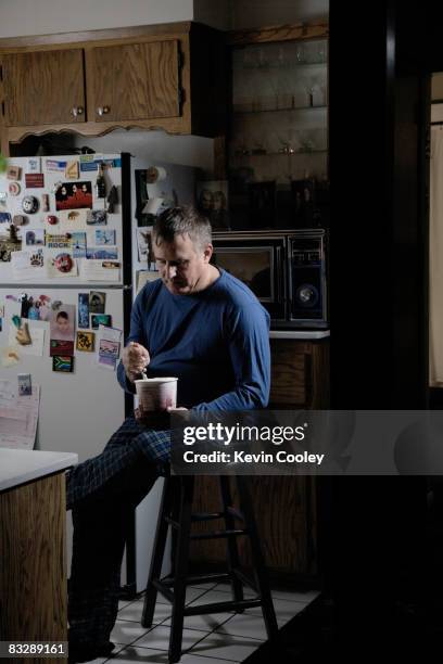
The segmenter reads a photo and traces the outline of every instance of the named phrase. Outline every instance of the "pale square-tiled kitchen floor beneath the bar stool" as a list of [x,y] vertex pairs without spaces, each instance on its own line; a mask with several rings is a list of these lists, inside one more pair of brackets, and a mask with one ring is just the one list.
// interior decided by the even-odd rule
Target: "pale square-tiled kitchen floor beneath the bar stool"
[[[226,601],[230,588],[227,585],[203,585],[187,590],[187,603],[199,604]],[[273,592],[277,621],[282,627],[300,613],[318,592]],[[248,591],[245,592],[248,596]],[[134,662],[167,664],[170,626],[170,604],[161,595],[154,614],[154,624],[149,629],[140,625],[143,600],[121,602],[118,620],[111,640],[115,643],[110,660],[98,659],[94,664]],[[246,609],[242,614],[219,613],[195,615],[185,618],[180,663],[227,664],[243,662],[266,640],[266,631],[260,608]]]

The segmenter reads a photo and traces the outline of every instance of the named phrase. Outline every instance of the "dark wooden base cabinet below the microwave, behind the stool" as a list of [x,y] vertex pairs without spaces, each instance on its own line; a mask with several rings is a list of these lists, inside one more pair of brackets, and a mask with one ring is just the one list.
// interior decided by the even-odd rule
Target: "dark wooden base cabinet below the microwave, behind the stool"
[[[329,339],[300,341],[271,339],[271,387],[274,410],[329,407]],[[277,585],[315,578],[318,564],[318,480],[312,476],[251,476],[251,497],[266,565]],[[193,511],[219,510],[215,477],[197,477]],[[233,491],[235,494],[235,491]],[[221,521],[195,524],[197,532],[223,528]],[[238,540],[242,564],[251,567],[248,544]],[[226,545],[219,540],[194,540],[191,566],[219,569],[226,561]]]

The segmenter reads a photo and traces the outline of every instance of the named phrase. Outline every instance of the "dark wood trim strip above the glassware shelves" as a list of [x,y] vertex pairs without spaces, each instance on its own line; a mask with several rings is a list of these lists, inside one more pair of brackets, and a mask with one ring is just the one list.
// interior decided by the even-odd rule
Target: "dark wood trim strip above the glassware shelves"
[[250,30],[232,30],[227,34],[229,46],[242,46],[248,43],[263,43],[266,41],[289,41],[292,39],[315,39],[328,37],[329,26],[327,23],[315,25],[298,23],[293,25],[278,25]]

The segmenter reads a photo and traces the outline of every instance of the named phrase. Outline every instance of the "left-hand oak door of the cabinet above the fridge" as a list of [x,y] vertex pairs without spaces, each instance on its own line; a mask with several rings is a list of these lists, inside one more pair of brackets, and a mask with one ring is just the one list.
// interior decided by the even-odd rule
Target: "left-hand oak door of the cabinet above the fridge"
[[1,61],[8,127],[85,122],[81,50],[10,53]]

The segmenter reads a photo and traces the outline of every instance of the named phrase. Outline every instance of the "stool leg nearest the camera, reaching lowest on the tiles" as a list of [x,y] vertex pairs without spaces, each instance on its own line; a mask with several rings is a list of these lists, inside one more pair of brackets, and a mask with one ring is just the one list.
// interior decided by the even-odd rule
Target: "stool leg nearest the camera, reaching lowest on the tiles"
[[169,635],[169,662],[179,662],[183,631],[183,611],[186,601],[186,577],[188,574],[189,541],[191,534],[191,515],[194,477],[180,477],[181,496],[177,549],[175,553],[174,601]]

